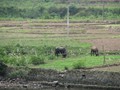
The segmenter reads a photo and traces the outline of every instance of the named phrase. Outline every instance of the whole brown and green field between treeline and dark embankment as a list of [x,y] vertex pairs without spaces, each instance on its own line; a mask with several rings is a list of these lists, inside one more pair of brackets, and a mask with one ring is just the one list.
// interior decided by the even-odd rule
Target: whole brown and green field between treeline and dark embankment
[[[0,57],[10,66],[57,70],[119,64],[119,22],[70,21],[68,32],[64,20],[0,21],[0,47],[10,51]],[[98,47],[100,56],[90,56],[92,45]],[[67,48],[67,58],[54,55],[58,46]],[[33,65],[34,56],[44,59],[44,64]]]

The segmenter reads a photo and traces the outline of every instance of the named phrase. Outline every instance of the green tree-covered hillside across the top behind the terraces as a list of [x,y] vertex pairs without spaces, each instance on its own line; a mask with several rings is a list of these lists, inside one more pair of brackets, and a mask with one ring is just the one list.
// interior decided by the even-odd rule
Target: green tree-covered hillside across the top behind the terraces
[[[64,19],[67,0],[0,0],[0,18]],[[69,0],[71,19],[118,19],[119,0]]]

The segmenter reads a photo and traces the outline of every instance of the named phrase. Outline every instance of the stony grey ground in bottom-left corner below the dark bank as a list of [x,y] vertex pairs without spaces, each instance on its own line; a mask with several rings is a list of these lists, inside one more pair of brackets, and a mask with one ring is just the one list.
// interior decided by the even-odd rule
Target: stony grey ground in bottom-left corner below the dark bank
[[42,89],[51,87],[50,85],[45,85],[45,82],[40,81],[26,81],[24,79],[7,79],[0,81],[0,90],[1,89],[13,89],[13,90],[33,90],[33,89]]

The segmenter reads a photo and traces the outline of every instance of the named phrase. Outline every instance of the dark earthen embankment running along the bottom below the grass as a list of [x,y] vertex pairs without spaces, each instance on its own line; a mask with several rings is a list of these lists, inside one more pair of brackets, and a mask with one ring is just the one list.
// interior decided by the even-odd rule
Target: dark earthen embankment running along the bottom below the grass
[[[28,68],[26,68],[28,69]],[[19,69],[9,69],[9,73]],[[29,69],[26,76],[21,78],[6,78],[1,81],[1,89],[44,89],[44,88],[84,88],[119,90],[120,73],[90,70],[68,70],[59,72],[46,69]],[[19,75],[18,75],[19,76]]]

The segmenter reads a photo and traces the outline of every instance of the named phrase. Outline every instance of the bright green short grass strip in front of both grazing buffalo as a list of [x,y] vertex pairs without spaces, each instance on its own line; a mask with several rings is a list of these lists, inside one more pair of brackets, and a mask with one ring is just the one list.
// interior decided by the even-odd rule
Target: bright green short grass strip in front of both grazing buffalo
[[[109,58],[109,59],[108,59]],[[82,62],[82,63],[81,63]],[[81,65],[82,67],[95,67],[95,66],[102,66],[102,65],[109,65],[114,63],[120,63],[120,56],[119,55],[110,55],[106,56],[106,61],[104,63],[103,56],[82,56],[82,57],[74,57],[74,58],[66,58],[66,59],[59,59],[54,61],[49,61],[46,64],[32,66],[34,68],[46,68],[46,69],[54,69],[54,70],[65,70],[73,69],[76,64]]]

